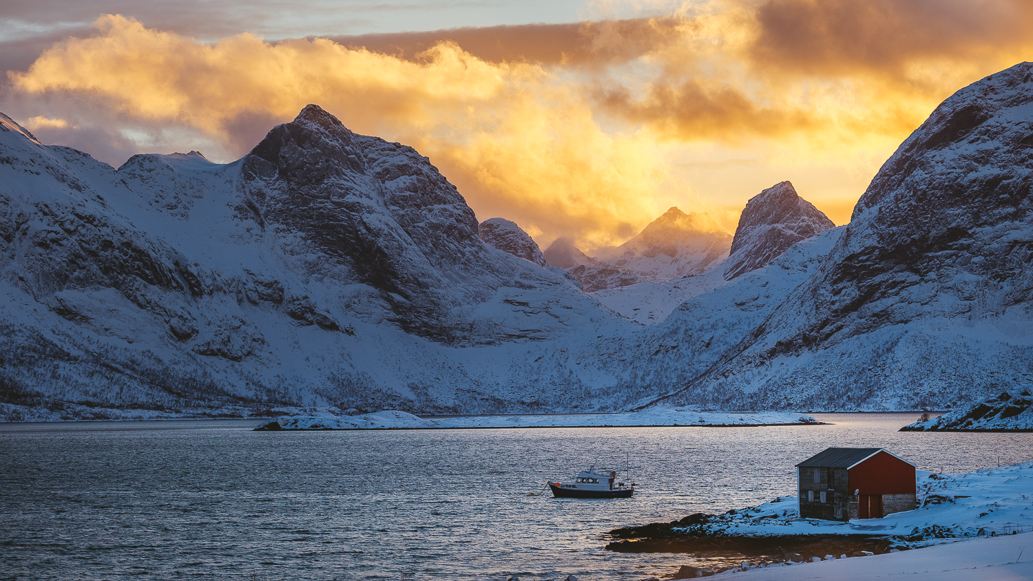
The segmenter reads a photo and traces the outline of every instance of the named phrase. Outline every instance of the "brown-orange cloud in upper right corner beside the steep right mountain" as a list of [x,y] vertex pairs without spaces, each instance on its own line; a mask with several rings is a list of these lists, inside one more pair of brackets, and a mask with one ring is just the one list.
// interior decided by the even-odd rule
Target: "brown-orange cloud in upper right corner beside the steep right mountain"
[[1018,0],[720,0],[686,3],[657,71],[596,82],[611,115],[679,140],[902,137],[953,91],[1033,57]]

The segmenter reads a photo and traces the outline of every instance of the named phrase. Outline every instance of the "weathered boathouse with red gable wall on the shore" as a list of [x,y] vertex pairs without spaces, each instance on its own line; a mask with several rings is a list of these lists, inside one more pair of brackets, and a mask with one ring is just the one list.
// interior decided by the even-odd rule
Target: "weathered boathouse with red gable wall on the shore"
[[801,518],[882,518],[914,510],[914,464],[882,448],[828,448],[796,464]]

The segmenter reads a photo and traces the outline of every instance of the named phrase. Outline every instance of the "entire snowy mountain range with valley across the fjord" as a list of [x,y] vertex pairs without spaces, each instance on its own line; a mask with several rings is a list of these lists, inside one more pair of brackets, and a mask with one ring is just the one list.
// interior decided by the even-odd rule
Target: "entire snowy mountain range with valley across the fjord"
[[[591,256],[309,105],[118,169],[0,117],[0,420],[947,409],[1033,383],[1033,64],[945,100],[850,224],[788,182]],[[806,194],[806,192],[805,192]]]

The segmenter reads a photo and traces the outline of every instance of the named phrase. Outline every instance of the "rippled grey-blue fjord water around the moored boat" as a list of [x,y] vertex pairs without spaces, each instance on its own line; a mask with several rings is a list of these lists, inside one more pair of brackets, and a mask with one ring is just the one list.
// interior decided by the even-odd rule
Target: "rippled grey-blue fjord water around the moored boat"
[[[823,426],[255,432],[253,420],[0,424],[0,579],[640,580],[689,562],[603,549],[615,527],[795,490],[828,446],[919,469],[1033,459],[1033,434]],[[553,498],[546,480],[623,465],[630,499]],[[529,495],[539,493],[540,495]]]

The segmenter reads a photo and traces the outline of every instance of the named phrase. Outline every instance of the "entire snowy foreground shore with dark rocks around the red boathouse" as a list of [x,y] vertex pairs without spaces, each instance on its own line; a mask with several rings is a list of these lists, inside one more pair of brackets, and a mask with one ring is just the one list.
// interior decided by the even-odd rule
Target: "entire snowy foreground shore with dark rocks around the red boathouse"
[[[611,535],[620,540],[606,548],[696,553],[713,552],[714,547],[737,552],[737,547],[777,545],[768,556],[747,561],[745,569],[725,570],[722,576],[742,576],[750,581],[895,579],[903,575],[909,580],[936,581],[1033,579],[1033,462],[965,474],[919,471],[917,479],[918,508],[884,518],[849,522],[801,519],[796,518],[796,498],[782,496],[721,515],[695,514],[670,523],[616,529]],[[815,553],[836,545],[837,540],[842,540],[840,546],[849,541],[857,546],[828,555],[825,552],[829,549]],[[825,541],[831,543],[823,545]],[[871,547],[875,542],[878,549]],[[866,543],[870,545],[868,552],[862,550]],[[1015,563],[1025,547],[1029,548],[1025,564]],[[871,556],[873,550],[887,554]],[[844,552],[869,556],[843,558],[847,555],[840,553]],[[803,561],[803,567],[790,561]]]

